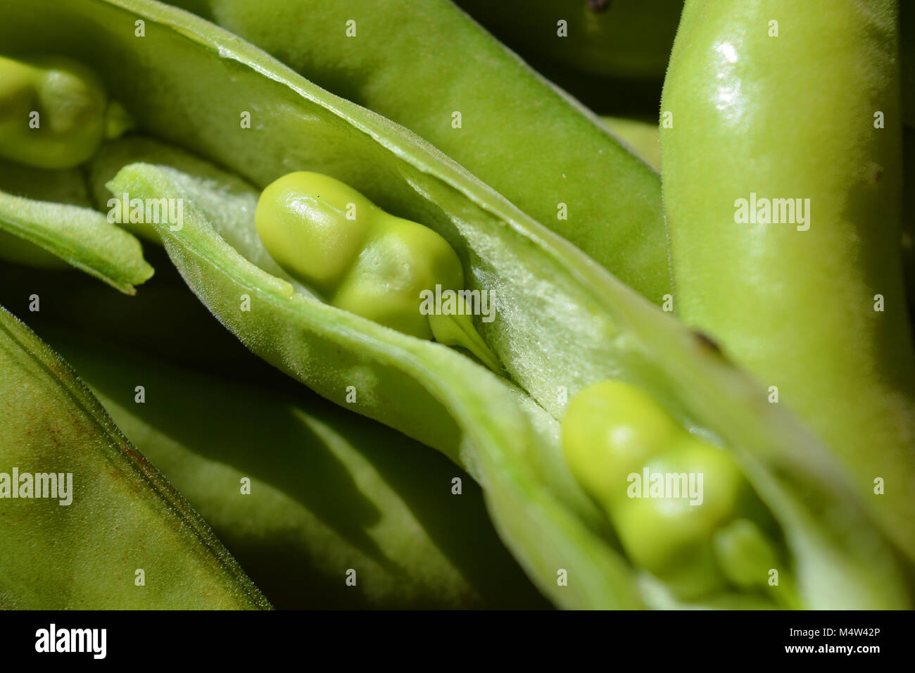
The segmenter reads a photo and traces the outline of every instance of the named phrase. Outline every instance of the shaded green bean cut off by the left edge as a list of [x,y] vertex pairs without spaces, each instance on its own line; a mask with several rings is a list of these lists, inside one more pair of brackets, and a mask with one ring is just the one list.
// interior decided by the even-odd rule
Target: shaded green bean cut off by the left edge
[[78,166],[102,143],[107,105],[102,81],[75,60],[0,56],[0,157],[35,168]]

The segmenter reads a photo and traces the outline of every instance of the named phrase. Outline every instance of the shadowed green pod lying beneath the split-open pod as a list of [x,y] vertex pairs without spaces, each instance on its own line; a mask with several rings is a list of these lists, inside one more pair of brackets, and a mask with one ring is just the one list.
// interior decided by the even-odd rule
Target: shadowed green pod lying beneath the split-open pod
[[[548,607],[479,486],[435,451],[265,366],[244,384],[43,327],[277,609]],[[188,347],[208,338],[186,335]]]

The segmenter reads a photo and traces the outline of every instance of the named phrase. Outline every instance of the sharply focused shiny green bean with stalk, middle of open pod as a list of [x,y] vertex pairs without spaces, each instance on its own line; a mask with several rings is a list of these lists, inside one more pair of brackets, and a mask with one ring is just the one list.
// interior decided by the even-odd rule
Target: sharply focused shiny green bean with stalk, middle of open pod
[[404,334],[466,348],[501,372],[460,295],[455,314],[427,310],[424,292],[434,297],[437,289],[464,288],[458,255],[438,233],[382,211],[338,179],[307,171],[268,185],[254,221],[276,263],[317,288],[332,306]]

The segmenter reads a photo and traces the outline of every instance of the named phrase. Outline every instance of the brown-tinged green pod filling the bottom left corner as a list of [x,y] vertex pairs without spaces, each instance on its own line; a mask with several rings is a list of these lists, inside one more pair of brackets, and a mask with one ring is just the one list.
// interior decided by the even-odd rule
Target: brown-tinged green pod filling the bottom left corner
[[[0,607],[270,607],[70,366],[5,309],[0,407]],[[48,473],[57,497],[38,497]]]

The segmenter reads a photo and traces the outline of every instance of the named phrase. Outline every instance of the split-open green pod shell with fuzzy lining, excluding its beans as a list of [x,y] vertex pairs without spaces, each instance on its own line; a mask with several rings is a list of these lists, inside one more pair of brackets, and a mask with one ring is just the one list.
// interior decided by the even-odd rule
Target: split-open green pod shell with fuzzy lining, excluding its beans
[[[36,18],[36,3],[53,6],[60,20]],[[221,165],[255,190],[290,171],[333,176],[450,244],[468,286],[499,297],[503,310],[486,337],[501,375],[322,301],[265,251],[256,200],[228,182],[149,162],[125,165],[107,182],[113,194],[182,200],[182,227],[153,226],[207,308],[268,363],[463,466],[483,486],[501,537],[556,605],[676,602],[663,581],[645,588],[649,573],[620,548],[563,457],[557,419],[566,398],[610,378],[638,386],[685,429],[733,455],[777,522],[805,607],[910,603],[892,536],[873,526],[848,475],[790,412],[770,405],[707,340],[414,134],[158,3],[30,0],[0,5],[0,17],[11,49],[24,48],[23,36],[53,42],[108,86],[122,83],[140,133]],[[137,22],[144,39],[134,37]],[[76,23],[78,40],[60,28]],[[115,58],[125,42],[135,58]],[[716,547],[746,556],[748,538],[727,526]],[[757,604],[750,599],[739,594],[737,605]]]

